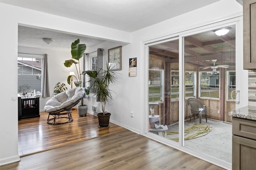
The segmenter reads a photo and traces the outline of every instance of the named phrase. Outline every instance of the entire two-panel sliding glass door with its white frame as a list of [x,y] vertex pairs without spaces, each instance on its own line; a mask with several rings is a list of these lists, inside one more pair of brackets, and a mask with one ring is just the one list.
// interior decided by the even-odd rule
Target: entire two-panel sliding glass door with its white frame
[[[242,70],[241,23],[147,44],[146,129],[153,138],[231,164],[228,113],[246,105],[239,92],[248,93],[240,83],[248,82]],[[223,29],[226,34],[215,33]]]

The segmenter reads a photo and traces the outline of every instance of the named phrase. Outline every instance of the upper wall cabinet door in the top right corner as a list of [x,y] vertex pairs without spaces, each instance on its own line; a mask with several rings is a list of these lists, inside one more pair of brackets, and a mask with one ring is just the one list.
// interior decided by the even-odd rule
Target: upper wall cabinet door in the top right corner
[[244,69],[256,70],[256,0],[243,1]]

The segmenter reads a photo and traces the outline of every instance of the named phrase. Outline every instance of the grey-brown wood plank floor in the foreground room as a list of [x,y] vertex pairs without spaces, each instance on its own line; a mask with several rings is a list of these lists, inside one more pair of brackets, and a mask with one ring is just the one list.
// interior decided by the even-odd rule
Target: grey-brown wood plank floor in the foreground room
[[125,130],[74,145],[24,156],[1,170],[220,170],[142,135]]

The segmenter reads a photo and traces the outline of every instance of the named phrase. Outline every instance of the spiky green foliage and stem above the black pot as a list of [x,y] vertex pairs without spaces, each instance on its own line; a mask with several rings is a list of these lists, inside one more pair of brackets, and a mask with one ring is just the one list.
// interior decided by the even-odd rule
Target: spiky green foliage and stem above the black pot
[[105,115],[105,106],[106,103],[112,100],[111,92],[112,90],[109,89],[110,84],[114,84],[117,82],[117,77],[115,72],[112,71],[112,66],[108,65],[106,70],[99,69],[99,70],[88,70],[82,72],[82,74],[87,74],[90,77],[90,88],[96,89],[96,98],[100,99],[102,113]]

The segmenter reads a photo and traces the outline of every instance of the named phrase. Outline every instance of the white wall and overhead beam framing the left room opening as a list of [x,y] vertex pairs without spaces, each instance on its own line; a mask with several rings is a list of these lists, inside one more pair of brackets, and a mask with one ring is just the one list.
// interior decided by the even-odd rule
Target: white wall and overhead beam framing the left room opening
[[[129,43],[130,33],[0,3],[0,165],[18,161],[18,24]],[[56,53],[52,52],[54,56]],[[57,59],[52,58],[54,63]],[[64,60],[64,59],[63,59]],[[53,63],[51,63],[53,64]],[[58,70],[58,68],[55,68]],[[61,68],[60,68],[61,69]],[[69,70],[65,70],[65,76]],[[58,73],[57,73],[58,74]],[[56,77],[56,79],[58,76]],[[45,102],[45,101],[44,101]]]

